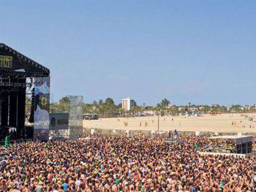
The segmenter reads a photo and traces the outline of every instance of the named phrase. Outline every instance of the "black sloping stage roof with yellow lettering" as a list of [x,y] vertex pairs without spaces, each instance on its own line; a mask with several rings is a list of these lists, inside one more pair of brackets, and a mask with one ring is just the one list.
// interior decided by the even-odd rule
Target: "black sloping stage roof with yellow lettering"
[[48,77],[49,69],[0,43],[0,76]]

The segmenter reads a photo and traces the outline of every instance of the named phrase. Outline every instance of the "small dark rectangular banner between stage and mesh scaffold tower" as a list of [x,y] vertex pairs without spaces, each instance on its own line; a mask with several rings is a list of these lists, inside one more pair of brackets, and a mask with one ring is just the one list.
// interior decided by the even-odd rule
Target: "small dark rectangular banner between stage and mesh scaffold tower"
[[55,113],[50,114],[49,130],[69,129],[69,114]]

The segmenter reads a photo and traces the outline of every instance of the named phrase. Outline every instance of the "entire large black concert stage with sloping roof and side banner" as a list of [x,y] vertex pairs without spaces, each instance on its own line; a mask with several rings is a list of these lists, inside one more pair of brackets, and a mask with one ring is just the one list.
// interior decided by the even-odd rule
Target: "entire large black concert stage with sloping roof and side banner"
[[0,141],[48,140],[49,69],[0,43]]

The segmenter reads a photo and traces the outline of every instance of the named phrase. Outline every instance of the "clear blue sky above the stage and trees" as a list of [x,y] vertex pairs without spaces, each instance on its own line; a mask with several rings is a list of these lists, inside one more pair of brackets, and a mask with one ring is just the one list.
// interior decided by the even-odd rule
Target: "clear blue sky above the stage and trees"
[[0,23],[51,70],[54,101],[256,102],[254,1],[0,1]]

